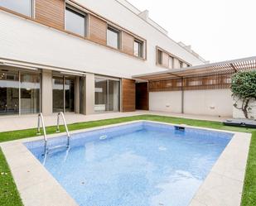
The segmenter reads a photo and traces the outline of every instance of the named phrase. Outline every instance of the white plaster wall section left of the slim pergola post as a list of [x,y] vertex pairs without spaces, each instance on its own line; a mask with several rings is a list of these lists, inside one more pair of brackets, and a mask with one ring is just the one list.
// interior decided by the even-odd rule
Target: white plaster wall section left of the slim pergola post
[[149,93],[149,110],[181,113],[181,91]]

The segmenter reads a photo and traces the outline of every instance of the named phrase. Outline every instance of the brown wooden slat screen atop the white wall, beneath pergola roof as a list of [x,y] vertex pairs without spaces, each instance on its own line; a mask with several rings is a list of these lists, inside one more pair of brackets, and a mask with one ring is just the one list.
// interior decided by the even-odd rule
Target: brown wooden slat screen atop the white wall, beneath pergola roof
[[[232,73],[211,74],[181,79],[154,80],[149,82],[150,92],[200,90],[200,89],[229,89]],[[183,87],[182,87],[183,85]]]

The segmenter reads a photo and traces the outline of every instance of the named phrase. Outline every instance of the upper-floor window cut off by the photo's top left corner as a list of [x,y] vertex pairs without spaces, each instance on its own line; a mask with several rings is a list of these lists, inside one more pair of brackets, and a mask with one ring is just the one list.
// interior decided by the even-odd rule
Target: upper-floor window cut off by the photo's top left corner
[[0,0],[0,7],[32,17],[32,0]]

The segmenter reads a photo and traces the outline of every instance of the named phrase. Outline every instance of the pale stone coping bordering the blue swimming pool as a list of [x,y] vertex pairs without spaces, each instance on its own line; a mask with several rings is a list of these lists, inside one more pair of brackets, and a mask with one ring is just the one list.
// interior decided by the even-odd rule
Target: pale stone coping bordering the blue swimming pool
[[[122,122],[101,127],[93,127],[70,132],[70,134],[89,132],[109,127],[132,124],[135,122],[154,122],[170,126],[202,129],[206,131],[228,132],[234,134],[225,150],[220,155],[210,173],[200,185],[190,206],[239,206],[243,185],[246,163],[249,154],[250,133],[229,132],[205,127],[192,127],[187,125],[172,124],[138,120]],[[60,137],[65,133],[49,135],[48,138]],[[12,176],[17,184],[24,206],[78,206],[57,180],[41,165],[39,160],[23,145],[24,142],[41,140],[43,137],[30,137],[26,139],[2,142],[3,154],[12,171]]]

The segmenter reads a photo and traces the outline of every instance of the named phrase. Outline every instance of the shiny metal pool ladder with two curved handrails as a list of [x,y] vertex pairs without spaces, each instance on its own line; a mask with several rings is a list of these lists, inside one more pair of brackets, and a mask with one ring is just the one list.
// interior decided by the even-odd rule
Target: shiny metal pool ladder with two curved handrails
[[[57,128],[56,128],[56,132],[60,132],[60,116],[62,117],[62,120],[64,122],[64,126],[65,126],[65,132],[66,132],[66,135],[67,135],[67,144],[66,144],[66,148],[69,148],[70,147],[70,132],[69,132],[69,129],[66,125],[66,122],[65,122],[65,116],[64,116],[64,113],[60,112],[58,113],[58,116],[57,116]],[[47,148],[47,136],[46,136],[46,124],[45,124],[45,120],[44,120],[44,116],[42,113],[39,113],[38,114],[38,124],[37,124],[37,135],[41,135],[41,127],[43,129],[43,132],[44,132],[44,141],[45,141],[45,153],[46,151],[48,151],[48,148]],[[54,147],[53,149],[56,149],[56,148],[59,148],[59,147],[62,147],[62,146],[56,146]]]

